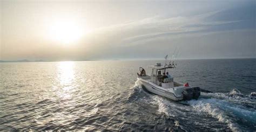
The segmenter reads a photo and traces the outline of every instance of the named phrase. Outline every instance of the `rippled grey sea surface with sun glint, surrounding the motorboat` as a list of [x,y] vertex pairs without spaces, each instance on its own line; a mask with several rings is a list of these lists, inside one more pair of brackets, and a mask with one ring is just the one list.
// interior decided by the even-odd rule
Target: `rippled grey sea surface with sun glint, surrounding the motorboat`
[[256,59],[177,60],[175,81],[210,91],[180,102],[137,85],[156,62],[0,63],[0,131],[256,131]]

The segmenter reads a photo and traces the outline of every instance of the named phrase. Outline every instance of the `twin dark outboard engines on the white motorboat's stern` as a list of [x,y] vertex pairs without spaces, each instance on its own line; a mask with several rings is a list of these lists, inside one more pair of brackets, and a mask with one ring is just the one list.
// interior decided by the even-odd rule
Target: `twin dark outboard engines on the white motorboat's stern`
[[192,88],[184,88],[183,89],[183,100],[192,100],[198,99],[200,96],[200,88],[192,87]]

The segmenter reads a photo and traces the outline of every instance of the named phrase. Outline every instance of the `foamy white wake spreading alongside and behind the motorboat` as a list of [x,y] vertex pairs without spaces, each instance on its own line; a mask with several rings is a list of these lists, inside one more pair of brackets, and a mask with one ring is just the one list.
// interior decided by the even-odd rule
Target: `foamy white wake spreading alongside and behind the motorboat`
[[[256,129],[256,99],[254,94],[244,95],[237,89],[230,93],[201,92],[198,100],[172,101],[145,92],[135,85],[130,99],[156,105],[159,113],[173,117],[185,130],[250,131]],[[133,100],[134,101],[134,100]]]

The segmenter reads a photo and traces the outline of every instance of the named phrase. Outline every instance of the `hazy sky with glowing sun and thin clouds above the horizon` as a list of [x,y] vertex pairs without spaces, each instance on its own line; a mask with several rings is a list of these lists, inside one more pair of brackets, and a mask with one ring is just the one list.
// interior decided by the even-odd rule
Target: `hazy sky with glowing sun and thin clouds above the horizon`
[[256,58],[256,1],[0,1],[0,60]]

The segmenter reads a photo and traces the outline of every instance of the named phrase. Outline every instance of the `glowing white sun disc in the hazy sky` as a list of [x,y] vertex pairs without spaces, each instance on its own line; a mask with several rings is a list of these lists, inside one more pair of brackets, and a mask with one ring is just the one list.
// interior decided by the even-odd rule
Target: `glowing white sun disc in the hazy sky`
[[62,44],[73,44],[82,37],[82,31],[74,22],[55,22],[50,26],[50,37]]

